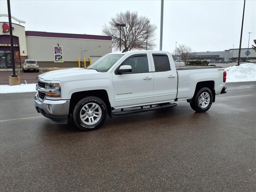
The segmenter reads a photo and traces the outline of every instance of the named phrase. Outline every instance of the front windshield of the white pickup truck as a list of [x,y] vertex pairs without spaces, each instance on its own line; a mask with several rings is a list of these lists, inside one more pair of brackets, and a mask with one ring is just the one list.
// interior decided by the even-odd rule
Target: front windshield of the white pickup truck
[[98,72],[107,72],[124,54],[104,55],[86,69],[95,69]]

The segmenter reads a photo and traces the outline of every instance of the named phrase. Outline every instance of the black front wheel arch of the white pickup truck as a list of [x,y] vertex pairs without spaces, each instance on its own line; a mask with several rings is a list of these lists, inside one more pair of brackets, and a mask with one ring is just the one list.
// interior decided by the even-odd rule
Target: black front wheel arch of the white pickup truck
[[72,114],[77,102],[86,96],[96,96],[96,97],[102,99],[107,106],[108,116],[110,118],[112,118],[112,109],[111,109],[111,105],[109,102],[108,93],[106,90],[102,90],[102,89],[101,90],[79,91],[79,92],[72,93],[71,98],[70,98],[69,114]]

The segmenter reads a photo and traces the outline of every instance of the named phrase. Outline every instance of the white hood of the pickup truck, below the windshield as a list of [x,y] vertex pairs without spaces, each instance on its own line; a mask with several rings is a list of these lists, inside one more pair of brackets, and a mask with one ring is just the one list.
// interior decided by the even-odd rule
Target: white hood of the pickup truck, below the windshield
[[43,78],[44,80],[52,81],[52,80],[61,80],[65,77],[70,77],[70,76],[80,76],[80,75],[95,74],[95,73],[99,73],[99,72],[92,69],[72,68],[72,69],[49,71],[49,72],[38,75],[38,77]]

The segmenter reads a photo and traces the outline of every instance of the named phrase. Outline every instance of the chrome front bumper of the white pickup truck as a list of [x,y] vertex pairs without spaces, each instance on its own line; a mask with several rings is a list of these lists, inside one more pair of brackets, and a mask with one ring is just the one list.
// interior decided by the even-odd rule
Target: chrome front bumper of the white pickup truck
[[35,96],[36,111],[56,123],[68,123],[69,105],[70,100],[41,100]]

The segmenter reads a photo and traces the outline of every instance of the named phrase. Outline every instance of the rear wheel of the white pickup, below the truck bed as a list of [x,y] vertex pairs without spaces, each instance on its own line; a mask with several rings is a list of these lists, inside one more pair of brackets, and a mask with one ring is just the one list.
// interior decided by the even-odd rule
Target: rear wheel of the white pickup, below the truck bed
[[190,107],[196,112],[206,112],[212,106],[212,98],[212,90],[208,87],[201,88],[192,98]]

